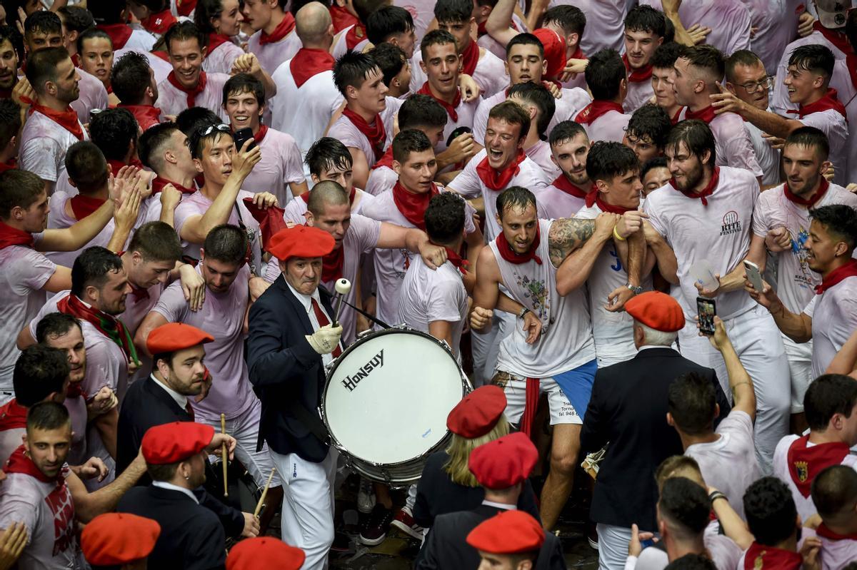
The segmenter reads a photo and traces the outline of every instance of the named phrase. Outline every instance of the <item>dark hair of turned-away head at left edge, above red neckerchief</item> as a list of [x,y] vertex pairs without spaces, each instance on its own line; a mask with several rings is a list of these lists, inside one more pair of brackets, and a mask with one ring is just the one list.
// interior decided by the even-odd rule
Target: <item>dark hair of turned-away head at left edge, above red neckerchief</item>
[[25,348],[15,360],[12,385],[15,400],[23,407],[45,400],[52,392],[64,394],[69,379],[69,358],[59,348],[34,344]]

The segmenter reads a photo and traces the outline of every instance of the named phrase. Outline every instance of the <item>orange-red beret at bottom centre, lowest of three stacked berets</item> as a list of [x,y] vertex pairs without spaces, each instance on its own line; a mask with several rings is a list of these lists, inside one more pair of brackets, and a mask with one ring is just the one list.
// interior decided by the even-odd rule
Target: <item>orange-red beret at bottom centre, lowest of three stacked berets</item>
[[476,526],[467,535],[467,543],[491,554],[518,554],[542,548],[544,531],[533,515],[512,510]]

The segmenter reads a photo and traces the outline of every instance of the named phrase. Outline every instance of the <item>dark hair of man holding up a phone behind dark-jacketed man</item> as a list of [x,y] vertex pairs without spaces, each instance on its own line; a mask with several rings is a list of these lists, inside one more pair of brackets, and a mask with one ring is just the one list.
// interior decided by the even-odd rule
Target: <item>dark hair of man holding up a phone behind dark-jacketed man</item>
[[669,383],[667,410],[679,429],[690,436],[701,436],[714,422],[716,395],[714,386],[696,372],[686,372]]

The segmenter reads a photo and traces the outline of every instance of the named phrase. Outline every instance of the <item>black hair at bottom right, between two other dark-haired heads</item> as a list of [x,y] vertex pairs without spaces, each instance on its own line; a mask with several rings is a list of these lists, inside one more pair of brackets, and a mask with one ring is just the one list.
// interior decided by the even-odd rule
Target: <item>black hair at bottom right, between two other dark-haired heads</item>
[[744,514],[756,542],[775,546],[794,535],[798,511],[792,492],[776,477],[763,477],[744,493]]

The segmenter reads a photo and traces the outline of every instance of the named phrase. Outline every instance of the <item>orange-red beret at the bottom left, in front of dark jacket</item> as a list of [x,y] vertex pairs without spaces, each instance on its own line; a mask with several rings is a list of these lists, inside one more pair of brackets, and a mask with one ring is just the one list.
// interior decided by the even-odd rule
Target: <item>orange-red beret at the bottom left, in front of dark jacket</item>
[[93,566],[119,566],[146,558],[160,525],[130,513],[99,514],[81,532],[81,549]]

